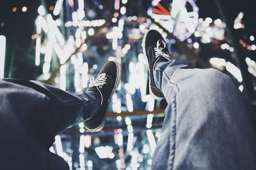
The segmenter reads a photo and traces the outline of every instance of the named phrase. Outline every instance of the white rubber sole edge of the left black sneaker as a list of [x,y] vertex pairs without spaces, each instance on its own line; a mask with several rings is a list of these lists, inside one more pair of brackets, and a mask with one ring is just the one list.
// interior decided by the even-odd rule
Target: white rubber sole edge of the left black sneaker
[[[114,92],[118,88],[118,85],[119,85],[119,83],[121,81],[121,73],[122,73],[120,64],[118,62],[116,62],[115,60],[113,60],[113,62],[115,62],[116,66],[117,66],[117,71],[116,71],[116,77],[117,78],[116,78],[116,82],[115,82],[115,87],[112,90],[111,95],[110,95],[110,97],[108,99],[108,105],[109,105],[109,101],[110,101],[111,97],[113,96]],[[108,106],[107,106],[107,108],[108,108]],[[107,111],[108,110],[106,109],[106,112]],[[107,113],[106,112],[104,113],[105,117],[104,117],[102,123],[98,127],[96,127],[95,129],[88,129],[88,131],[90,131],[90,132],[99,132],[99,131],[101,131],[103,129],[103,127],[105,125],[105,122],[106,122],[106,118],[107,118]]]

